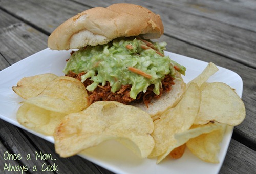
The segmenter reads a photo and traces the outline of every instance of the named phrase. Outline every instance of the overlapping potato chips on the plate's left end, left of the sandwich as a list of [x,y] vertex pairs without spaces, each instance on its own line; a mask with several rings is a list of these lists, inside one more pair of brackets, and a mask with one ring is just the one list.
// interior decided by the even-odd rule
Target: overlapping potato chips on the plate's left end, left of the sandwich
[[13,86],[13,91],[26,99],[17,111],[18,122],[49,136],[65,115],[89,105],[86,88],[72,77],[54,74],[25,77]]

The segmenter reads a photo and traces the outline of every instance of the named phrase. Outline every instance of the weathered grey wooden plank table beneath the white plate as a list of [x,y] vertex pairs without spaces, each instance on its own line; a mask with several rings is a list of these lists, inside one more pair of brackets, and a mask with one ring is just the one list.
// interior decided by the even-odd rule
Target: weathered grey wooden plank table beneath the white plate
[[[118,2],[0,1],[0,70],[47,48],[50,33],[78,12]],[[131,0],[129,3],[161,15],[165,31],[160,40],[167,42],[167,51],[212,61],[242,77],[246,118],[234,128],[220,173],[256,173],[256,2]],[[111,173],[78,156],[60,158],[52,143],[3,120],[0,120],[0,142],[0,172],[5,163],[20,166],[56,163],[56,173]],[[53,154],[56,160],[4,160],[6,151],[12,154],[37,151]],[[32,167],[27,172],[32,173]]]

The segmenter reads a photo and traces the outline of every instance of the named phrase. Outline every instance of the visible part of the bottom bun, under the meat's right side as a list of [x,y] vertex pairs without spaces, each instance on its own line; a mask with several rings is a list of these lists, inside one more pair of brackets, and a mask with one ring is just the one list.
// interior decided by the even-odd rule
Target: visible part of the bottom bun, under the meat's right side
[[153,120],[158,119],[163,112],[168,110],[168,108],[175,107],[185,92],[186,83],[181,78],[181,74],[179,72],[177,72],[174,82],[175,85],[172,85],[172,90],[162,94],[160,99],[151,100],[148,108],[144,103],[136,103],[134,106],[139,107],[150,114]]

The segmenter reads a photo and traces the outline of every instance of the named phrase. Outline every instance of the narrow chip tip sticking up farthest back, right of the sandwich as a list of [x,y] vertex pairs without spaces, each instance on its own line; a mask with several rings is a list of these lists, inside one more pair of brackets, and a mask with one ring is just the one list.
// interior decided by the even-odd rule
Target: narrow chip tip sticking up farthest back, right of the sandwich
[[209,79],[210,76],[212,76],[218,70],[219,69],[215,66],[214,63],[209,62],[203,72],[199,74],[196,78],[191,80],[189,83],[196,83],[200,87],[204,82]]

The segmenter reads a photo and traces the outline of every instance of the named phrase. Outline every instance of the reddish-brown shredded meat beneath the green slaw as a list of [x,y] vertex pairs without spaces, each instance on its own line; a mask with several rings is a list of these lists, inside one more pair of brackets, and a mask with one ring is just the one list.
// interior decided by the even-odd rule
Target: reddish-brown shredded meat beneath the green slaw
[[[69,72],[69,74],[66,76],[73,77],[81,81],[81,76],[84,74],[85,74],[84,72],[79,74]],[[159,95],[156,95],[153,92],[154,85],[151,84],[150,86],[148,86],[147,91],[145,93],[140,92],[137,95],[136,100],[130,97],[130,90],[132,88],[132,85],[130,84],[122,85],[119,91],[116,91],[115,93],[113,93],[111,92],[110,83],[106,82],[104,86],[98,85],[94,91],[87,91],[89,95],[89,103],[92,104],[96,101],[118,101],[120,103],[129,104],[130,102],[143,101],[144,104],[148,107],[148,104],[150,104],[153,98],[159,99],[164,92],[168,92],[172,89],[172,85],[175,84],[173,80],[174,78],[171,77],[170,75],[165,75],[165,78],[162,80],[162,86],[160,88]],[[83,82],[83,85],[87,87],[92,83],[93,81],[91,81],[90,79],[87,79],[86,81]]]

